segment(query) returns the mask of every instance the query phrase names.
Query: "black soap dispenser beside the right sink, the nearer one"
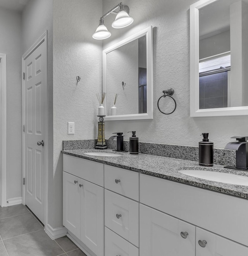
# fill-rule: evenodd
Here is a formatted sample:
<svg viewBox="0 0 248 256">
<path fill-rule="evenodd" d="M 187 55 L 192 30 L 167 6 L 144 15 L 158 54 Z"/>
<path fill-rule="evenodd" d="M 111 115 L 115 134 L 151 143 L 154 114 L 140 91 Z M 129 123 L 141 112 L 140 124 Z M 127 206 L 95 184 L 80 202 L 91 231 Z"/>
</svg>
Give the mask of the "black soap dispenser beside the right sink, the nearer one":
<svg viewBox="0 0 248 256">
<path fill-rule="evenodd" d="M 199 165 L 214 166 L 214 143 L 209 141 L 207 132 L 201 135 L 203 140 L 199 142 Z"/>
</svg>

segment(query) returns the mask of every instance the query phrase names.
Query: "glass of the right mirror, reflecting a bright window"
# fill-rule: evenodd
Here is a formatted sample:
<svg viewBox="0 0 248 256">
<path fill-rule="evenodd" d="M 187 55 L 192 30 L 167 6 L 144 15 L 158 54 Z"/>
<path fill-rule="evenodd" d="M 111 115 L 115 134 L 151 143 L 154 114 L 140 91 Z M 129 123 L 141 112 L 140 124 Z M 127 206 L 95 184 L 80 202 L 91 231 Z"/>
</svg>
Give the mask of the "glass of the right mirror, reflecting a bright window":
<svg viewBox="0 0 248 256">
<path fill-rule="evenodd" d="M 199 10 L 199 108 L 248 106 L 248 1 Z"/>
</svg>

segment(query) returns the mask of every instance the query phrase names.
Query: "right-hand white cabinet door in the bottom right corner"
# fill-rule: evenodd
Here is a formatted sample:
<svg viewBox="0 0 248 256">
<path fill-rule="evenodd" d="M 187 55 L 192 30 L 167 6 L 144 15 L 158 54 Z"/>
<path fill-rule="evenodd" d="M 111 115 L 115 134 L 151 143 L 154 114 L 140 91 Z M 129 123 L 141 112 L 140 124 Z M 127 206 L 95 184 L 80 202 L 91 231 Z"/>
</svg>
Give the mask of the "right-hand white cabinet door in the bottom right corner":
<svg viewBox="0 0 248 256">
<path fill-rule="evenodd" d="M 199 241 L 200 244 L 205 247 L 200 246 Z M 196 227 L 196 256 L 245 255 L 248 255 L 248 247 Z"/>
</svg>

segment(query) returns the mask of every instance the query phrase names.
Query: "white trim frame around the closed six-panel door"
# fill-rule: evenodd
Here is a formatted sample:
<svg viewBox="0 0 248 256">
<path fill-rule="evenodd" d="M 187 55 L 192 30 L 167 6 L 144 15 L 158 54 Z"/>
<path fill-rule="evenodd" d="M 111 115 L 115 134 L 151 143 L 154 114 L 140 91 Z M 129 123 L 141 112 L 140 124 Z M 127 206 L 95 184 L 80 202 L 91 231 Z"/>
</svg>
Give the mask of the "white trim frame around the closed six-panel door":
<svg viewBox="0 0 248 256">
<path fill-rule="evenodd" d="M 27 57 L 35 51 L 43 42 L 46 44 L 46 68 L 44 70 L 45 73 L 45 132 L 44 132 L 44 168 L 45 168 L 45 230 L 47 229 L 48 224 L 48 99 L 47 99 L 47 73 L 48 73 L 48 41 L 47 41 L 47 30 L 43 35 L 22 55 L 22 76 L 25 70 L 25 60 Z M 25 108 L 24 108 L 24 100 L 25 100 L 25 90 L 24 90 L 24 80 L 22 77 L 22 127 L 25 125 Z M 26 129 L 26 126 L 25 126 Z M 22 129 L 22 181 L 25 178 L 25 132 Z M 25 185 L 22 182 L 22 204 L 25 204 Z"/>
</svg>

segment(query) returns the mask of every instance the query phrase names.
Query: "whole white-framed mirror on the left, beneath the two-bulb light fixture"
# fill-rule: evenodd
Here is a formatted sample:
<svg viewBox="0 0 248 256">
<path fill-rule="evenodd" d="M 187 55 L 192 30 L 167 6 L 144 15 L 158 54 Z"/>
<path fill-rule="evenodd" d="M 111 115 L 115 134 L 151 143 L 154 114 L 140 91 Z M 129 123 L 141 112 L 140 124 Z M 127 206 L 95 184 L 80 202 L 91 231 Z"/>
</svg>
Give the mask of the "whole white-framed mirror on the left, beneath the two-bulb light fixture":
<svg viewBox="0 0 248 256">
<path fill-rule="evenodd" d="M 150 26 L 103 50 L 104 120 L 153 118 L 152 47 Z"/>
</svg>

